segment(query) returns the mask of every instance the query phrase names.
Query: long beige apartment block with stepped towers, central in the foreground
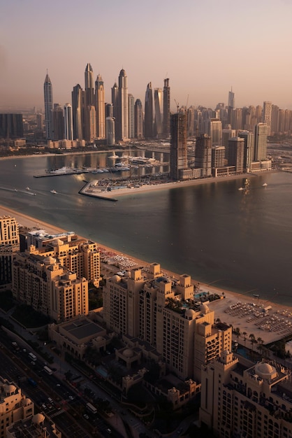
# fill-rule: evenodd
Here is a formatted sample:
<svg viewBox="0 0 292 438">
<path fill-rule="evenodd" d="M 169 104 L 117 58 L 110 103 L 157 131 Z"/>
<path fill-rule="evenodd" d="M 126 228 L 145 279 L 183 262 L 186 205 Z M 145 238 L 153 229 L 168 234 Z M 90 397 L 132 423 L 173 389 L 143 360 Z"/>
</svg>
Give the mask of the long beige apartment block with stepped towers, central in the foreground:
<svg viewBox="0 0 292 438">
<path fill-rule="evenodd" d="M 231 348 L 231 327 L 216 324 L 207 305 L 196 306 L 191 277 L 163 276 L 157 263 L 150 265 L 147 275 L 135 268 L 124 277 L 108 279 L 103 320 L 108 330 L 156 348 L 181 379 L 200 381 L 201 365 Z"/>
</svg>

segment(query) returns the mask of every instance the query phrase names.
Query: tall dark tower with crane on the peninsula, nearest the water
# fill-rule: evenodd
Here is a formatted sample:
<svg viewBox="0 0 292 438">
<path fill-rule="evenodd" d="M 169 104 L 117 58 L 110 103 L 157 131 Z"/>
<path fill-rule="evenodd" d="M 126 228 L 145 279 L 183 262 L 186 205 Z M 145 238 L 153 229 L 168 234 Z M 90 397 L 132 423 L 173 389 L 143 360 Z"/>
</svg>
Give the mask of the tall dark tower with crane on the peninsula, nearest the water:
<svg viewBox="0 0 292 438">
<path fill-rule="evenodd" d="M 170 115 L 170 178 L 180 179 L 180 169 L 187 169 L 187 115 Z"/>
</svg>

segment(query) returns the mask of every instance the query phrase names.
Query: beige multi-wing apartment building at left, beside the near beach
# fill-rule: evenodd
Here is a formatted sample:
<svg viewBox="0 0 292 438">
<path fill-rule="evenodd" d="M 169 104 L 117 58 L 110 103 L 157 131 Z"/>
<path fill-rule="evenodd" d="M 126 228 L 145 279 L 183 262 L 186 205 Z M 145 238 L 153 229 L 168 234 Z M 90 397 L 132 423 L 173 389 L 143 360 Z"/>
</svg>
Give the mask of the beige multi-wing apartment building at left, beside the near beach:
<svg viewBox="0 0 292 438">
<path fill-rule="evenodd" d="M 72 232 L 39 231 L 27 234 L 27 245 L 13 260 L 13 298 L 57 323 L 87 315 L 88 283 L 98 286 L 101 279 L 96 243 Z"/>
</svg>

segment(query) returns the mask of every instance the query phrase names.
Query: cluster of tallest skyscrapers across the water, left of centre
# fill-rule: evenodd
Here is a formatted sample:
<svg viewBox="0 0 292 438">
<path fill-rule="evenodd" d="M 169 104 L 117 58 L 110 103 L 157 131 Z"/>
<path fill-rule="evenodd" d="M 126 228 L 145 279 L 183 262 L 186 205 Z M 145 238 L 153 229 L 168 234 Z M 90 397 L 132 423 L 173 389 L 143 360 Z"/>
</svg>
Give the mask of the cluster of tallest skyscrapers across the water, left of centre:
<svg viewBox="0 0 292 438">
<path fill-rule="evenodd" d="M 111 90 L 111 103 L 105 102 L 105 90 L 101 75 L 96 76 L 92 66 L 85 68 L 85 90 L 80 84 L 73 87 L 72 104 L 64 109 L 53 103 L 52 82 L 47 73 L 44 83 L 45 136 L 47 140 L 116 141 L 129 139 L 161 138 L 169 136 L 170 86 L 164 80 L 163 90 L 154 90 L 155 122 L 153 122 L 152 85 L 147 85 L 145 111 L 140 99 L 134 99 L 128 90 L 126 71 L 119 72 L 118 84 Z"/>
</svg>

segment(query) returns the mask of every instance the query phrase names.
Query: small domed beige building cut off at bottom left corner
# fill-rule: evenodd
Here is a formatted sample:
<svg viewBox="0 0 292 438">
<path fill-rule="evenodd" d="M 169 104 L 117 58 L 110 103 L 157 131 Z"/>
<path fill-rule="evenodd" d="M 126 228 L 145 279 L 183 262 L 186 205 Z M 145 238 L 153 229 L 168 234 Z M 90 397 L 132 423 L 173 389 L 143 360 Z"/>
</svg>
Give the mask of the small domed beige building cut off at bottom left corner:
<svg viewBox="0 0 292 438">
<path fill-rule="evenodd" d="M 21 389 L 0 377 L 0 437 L 6 438 L 6 429 L 15 421 L 34 415 L 34 403 Z"/>
</svg>

